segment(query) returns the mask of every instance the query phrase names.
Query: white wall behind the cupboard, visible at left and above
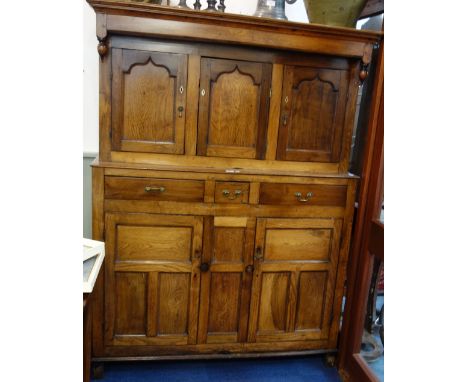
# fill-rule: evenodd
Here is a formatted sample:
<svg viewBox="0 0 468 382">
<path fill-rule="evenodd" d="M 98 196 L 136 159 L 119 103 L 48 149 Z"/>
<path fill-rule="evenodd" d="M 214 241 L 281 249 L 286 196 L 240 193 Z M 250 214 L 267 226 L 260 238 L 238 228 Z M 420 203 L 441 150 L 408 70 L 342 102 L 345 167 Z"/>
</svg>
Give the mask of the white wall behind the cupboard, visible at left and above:
<svg viewBox="0 0 468 382">
<path fill-rule="evenodd" d="M 188 0 L 189 6 L 195 0 Z M 171 0 L 171 5 L 178 4 Z M 165 4 L 165 0 L 163 1 Z M 257 0 L 226 0 L 226 12 L 252 15 L 257 8 Z M 206 0 L 202 0 L 202 9 Z M 308 22 L 304 2 L 286 4 L 286 16 L 290 21 Z M 83 152 L 97 153 L 99 150 L 99 56 L 97 54 L 96 17 L 94 10 L 83 1 Z"/>
</svg>

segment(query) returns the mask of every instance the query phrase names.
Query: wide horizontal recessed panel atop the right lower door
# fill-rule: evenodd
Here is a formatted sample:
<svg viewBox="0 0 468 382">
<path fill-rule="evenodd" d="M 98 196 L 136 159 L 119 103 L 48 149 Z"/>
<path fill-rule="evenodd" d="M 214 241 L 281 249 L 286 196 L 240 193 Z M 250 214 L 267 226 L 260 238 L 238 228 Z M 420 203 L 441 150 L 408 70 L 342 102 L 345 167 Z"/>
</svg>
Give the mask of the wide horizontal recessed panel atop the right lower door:
<svg viewBox="0 0 468 382">
<path fill-rule="evenodd" d="M 330 229 L 267 229 L 265 261 L 329 260 Z"/>
</svg>

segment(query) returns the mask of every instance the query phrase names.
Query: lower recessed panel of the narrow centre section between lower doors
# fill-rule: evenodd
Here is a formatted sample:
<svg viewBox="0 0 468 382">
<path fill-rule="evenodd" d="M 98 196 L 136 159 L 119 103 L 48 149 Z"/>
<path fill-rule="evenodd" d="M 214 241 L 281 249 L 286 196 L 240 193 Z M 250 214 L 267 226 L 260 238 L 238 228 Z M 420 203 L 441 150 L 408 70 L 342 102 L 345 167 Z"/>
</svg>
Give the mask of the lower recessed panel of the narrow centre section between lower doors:
<svg viewBox="0 0 468 382">
<path fill-rule="evenodd" d="M 241 273 L 211 274 L 209 333 L 238 331 L 241 280 Z"/>
</svg>

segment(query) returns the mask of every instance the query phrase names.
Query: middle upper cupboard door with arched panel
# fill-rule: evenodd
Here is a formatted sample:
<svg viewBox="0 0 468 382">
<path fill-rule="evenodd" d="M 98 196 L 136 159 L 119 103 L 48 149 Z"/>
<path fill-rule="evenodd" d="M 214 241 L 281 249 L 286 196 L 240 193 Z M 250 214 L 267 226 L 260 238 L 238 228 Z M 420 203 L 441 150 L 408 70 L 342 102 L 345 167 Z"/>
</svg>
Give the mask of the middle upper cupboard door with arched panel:
<svg viewBox="0 0 468 382">
<path fill-rule="evenodd" d="M 202 58 L 198 154 L 264 156 L 271 65 Z"/>
</svg>

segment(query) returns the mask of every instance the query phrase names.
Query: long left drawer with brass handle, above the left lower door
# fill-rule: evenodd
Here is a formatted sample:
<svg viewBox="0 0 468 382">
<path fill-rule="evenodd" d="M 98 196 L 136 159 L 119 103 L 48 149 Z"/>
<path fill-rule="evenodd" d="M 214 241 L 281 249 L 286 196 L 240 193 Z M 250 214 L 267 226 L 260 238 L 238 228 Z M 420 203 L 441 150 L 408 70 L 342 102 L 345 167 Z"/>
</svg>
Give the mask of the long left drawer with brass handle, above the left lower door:
<svg viewBox="0 0 468 382">
<path fill-rule="evenodd" d="M 107 199 L 202 202 L 205 182 L 106 176 L 104 190 Z"/>
</svg>

